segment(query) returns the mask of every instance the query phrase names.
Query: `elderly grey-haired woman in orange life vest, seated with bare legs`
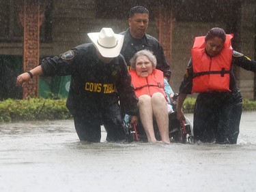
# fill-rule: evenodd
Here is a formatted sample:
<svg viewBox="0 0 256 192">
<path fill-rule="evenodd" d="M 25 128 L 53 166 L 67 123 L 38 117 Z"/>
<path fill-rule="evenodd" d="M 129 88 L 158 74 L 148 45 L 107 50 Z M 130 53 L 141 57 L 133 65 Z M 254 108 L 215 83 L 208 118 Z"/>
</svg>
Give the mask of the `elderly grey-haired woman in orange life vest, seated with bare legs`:
<svg viewBox="0 0 256 192">
<path fill-rule="evenodd" d="M 141 50 L 130 59 L 130 75 L 135 93 L 139 98 L 139 115 L 148 142 L 158 142 L 154 133 L 156 118 L 160 138 L 169 144 L 169 116 L 165 94 L 164 76 L 156 69 L 156 57 L 149 50 Z"/>
</svg>

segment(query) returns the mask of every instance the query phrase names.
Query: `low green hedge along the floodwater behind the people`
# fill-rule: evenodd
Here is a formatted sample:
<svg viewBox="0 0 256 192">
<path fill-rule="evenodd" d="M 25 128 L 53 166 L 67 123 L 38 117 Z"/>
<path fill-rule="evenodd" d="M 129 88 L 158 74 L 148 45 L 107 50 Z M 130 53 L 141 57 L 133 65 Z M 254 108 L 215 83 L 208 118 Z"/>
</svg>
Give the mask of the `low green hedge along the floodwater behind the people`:
<svg viewBox="0 0 256 192">
<path fill-rule="evenodd" d="M 195 98 L 187 97 L 183 111 L 193 113 Z M 256 110 L 256 101 L 244 99 L 243 110 Z M 0 101 L 0 122 L 68 119 L 72 115 L 66 108 L 66 99 L 6 99 Z"/>
</svg>

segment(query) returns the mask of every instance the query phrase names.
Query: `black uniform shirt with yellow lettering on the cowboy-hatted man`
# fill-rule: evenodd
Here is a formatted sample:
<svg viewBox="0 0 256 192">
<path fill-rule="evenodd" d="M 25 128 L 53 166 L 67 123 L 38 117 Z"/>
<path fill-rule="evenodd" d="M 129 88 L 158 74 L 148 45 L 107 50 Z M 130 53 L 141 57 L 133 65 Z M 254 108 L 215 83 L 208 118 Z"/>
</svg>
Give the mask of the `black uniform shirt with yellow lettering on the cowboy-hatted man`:
<svg viewBox="0 0 256 192">
<path fill-rule="evenodd" d="M 121 54 L 111 63 L 102 63 L 94 45 L 83 44 L 59 57 L 43 59 L 40 65 L 44 76 L 71 75 L 67 107 L 72 114 L 94 113 L 100 118 L 104 108 L 118 101 L 126 114 L 138 114 L 138 99 Z"/>
</svg>

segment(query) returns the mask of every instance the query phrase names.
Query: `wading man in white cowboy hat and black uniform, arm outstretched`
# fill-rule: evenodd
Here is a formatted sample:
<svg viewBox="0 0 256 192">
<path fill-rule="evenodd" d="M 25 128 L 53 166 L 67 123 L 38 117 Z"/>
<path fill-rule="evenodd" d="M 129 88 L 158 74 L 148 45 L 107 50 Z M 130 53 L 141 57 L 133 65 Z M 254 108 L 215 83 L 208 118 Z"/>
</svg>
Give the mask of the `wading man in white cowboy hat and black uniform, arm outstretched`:
<svg viewBox="0 0 256 192">
<path fill-rule="evenodd" d="M 104 125 L 107 141 L 125 139 L 121 107 L 137 123 L 138 99 L 131 86 L 130 75 L 119 54 L 124 36 L 111 28 L 88 33 L 92 44 L 83 44 L 55 57 L 46 57 L 38 67 L 17 77 L 17 86 L 33 76 L 71 75 L 67 107 L 74 117 L 76 133 L 81 141 L 100 142 L 100 125 Z"/>
</svg>

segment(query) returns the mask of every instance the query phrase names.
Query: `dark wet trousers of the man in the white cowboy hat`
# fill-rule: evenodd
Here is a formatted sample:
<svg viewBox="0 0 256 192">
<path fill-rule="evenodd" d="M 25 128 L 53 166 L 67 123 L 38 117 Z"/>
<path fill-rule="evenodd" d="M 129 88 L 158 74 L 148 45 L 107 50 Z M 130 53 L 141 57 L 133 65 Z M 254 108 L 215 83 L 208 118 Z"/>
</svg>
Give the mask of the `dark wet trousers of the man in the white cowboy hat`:
<svg viewBox="0 0 256 192">
<path fill-rule="evenodd" d="M 73 116 L 74 127 L 81 141 L 100 142 L 100 125 L 104 125 L 106 129 L 106 141 L 121 142 L 126 138 L 124 128 L 122 127 L 121 109 L 118 103 L 102 108 L 100 113 L 94 113 L 91 110 L 91 114 L 76 112 Z"/>
</svg>

